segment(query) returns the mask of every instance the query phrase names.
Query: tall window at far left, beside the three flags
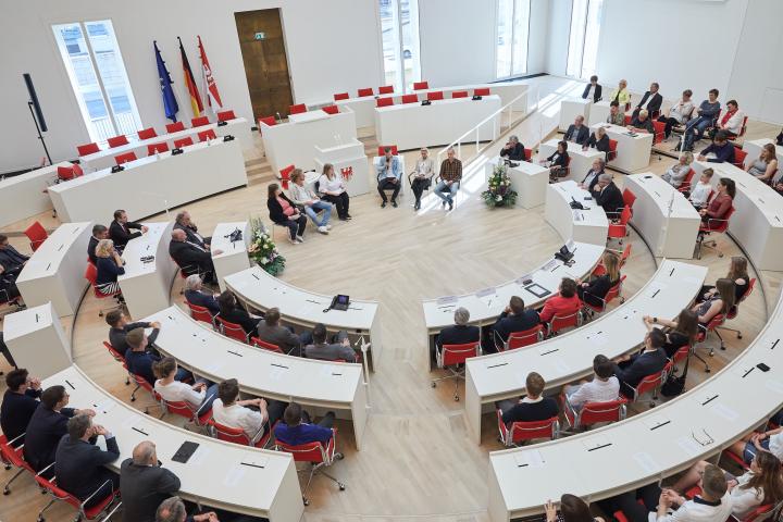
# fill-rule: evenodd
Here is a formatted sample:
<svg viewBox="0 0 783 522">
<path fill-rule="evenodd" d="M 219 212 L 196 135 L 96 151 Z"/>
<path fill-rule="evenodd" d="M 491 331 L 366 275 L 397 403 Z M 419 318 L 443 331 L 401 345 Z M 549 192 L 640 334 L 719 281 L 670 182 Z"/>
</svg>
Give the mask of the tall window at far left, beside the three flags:
<svg viewBox="0 0 783 522">
<path fill-rule="evenodd" d="M 52 29 L 90 139 L 105 141 L 140 129 L 111 21 L 58 24 Z"/>
</svg>

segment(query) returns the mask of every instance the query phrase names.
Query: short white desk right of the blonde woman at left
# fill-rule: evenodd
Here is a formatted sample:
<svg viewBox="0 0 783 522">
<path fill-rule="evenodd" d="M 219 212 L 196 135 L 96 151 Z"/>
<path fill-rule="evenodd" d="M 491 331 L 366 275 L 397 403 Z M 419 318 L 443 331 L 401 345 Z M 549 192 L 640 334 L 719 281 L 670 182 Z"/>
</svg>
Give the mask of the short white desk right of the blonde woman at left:
<svg viewBox="0 0 783 522">
<path fill-rule="evenodd" d="M 125 274 L 117 277 L 132 318 L 142 318 L 167 308 L 177 266 L 169 256 L 173 221 L 144 223 L 149 229 L 128 241 L 123 250 Z M 141 258 L 154 256 L 145 263 Z"/>
</svg>

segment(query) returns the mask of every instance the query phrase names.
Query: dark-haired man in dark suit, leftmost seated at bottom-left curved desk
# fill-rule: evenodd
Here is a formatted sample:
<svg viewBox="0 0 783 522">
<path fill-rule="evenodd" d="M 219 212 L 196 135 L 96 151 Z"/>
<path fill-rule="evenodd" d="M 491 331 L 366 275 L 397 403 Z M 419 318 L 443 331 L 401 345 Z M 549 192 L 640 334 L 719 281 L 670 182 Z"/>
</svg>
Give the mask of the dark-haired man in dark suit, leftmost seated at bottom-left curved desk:
<svg viewBox="0 0 783 522">
<path fill-rule="evenodd" d="M 14 447 L 18 447 L 24 443 L 22 435 L 27 431 L 27 424 L 39 405 L 40 381 L 30 377 L 27 370 L 20 368 L 5 375 L 5 385 L 8 389 L 0 406 L 0 428 L 5 438 L 13 440 Z"/>
</svg>

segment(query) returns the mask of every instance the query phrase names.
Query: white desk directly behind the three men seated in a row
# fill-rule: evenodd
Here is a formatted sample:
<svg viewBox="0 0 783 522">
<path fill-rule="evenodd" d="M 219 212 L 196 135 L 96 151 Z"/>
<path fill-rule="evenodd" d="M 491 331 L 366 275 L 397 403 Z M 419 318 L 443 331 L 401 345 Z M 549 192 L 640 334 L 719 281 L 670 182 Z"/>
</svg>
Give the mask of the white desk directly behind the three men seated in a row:
<svg viewBox="0 0 783 522">
<path fill-rule="evenodd" d="M 435 100 L 430 105 L 405 103 L 375 109 L 375 132 L 378 144 L 396 145 L 400 150 L 447 145 L 460 134 L 476 126 L 500 109 L 500 97 L 481 100 L 456 98 Z M 500 133 L 499 115 L 478 127 L 478 140 L 488 141 Z M 470 133 L 464 142 L 475 142 Z"/>
</svg>

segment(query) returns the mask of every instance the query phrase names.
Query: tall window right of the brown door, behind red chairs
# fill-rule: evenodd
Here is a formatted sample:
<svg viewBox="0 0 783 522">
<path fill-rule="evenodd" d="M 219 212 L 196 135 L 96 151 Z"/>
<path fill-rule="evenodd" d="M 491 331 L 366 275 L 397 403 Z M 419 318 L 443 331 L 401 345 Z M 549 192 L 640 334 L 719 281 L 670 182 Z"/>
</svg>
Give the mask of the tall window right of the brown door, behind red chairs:
<svg viewBox="0 0 783 522">
<path fill-rule="evenodd" d="M 402 92 L 421 79 L 419 0 L 378 0 L 386 85 Z"/>
</svg>

